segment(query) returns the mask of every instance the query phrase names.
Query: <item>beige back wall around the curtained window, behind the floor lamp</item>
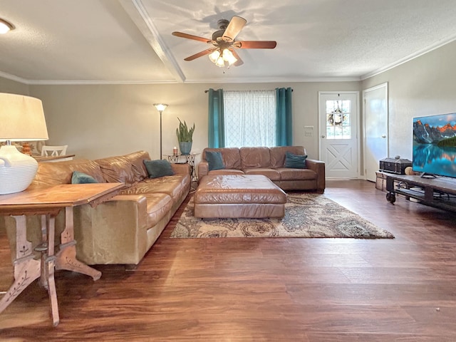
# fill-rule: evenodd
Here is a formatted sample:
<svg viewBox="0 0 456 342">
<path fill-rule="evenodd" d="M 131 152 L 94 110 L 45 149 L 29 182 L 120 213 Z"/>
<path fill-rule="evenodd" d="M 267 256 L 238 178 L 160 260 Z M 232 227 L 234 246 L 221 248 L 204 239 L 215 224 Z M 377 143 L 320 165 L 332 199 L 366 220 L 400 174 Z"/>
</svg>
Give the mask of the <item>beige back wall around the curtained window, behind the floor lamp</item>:
<svg viewBox="0 0 456 342">
<path fill-rule="evenodd" d="M 152 103 L 167 103 L 162 114 L 162 150 L 177 145 L 179 121 L 195 123 L 194 152 L 207 147 L 208 88 L 225 90 L 291 87 L 294 144 L 304 145 L 318 158 L 318 135 L 304 138 L 304 125 L 318 128 L 318 90 L 360 90 L 359 82 L 142 84 L 96 86 L 30 86 L 31 95 L 43 100 L 48 125 L 48 145 L 68 144 L 68 153 L 97 158 L 147 150 L 160 157 L 160 115 Z"/>
</svg>

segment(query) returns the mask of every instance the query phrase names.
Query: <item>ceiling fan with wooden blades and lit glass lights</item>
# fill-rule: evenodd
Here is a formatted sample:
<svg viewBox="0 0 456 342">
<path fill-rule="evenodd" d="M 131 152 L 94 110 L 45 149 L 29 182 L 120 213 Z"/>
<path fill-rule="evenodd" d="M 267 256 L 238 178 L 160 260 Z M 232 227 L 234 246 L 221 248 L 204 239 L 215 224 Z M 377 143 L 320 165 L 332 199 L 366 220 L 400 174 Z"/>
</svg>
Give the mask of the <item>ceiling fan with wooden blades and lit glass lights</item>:
<svg viewBox="0 0 456 342">
<path fill-rule="evenodd" d="M 212 33 L 212 39 L 193 36 L 192 34 L 182 32 L 172 32 L 173 36 L 202 41 L 203 43 L 212 44 L 212 47 L 204 51 L 195 53 L 195 55 L 184 58 L 184 61 L 193 61 L 201 56 L 209 55 L 209 59 L 216 66 L 241 66 L 244 64 L 236 52 L 238 48 L 275 48 L 276 41 L 236 41 L 235 38 L 244 28 L 247 20 L 240 16 L 233 16 L 230 21 L 221 19 L 217 22 L 219 30 Z"/>
</svg>

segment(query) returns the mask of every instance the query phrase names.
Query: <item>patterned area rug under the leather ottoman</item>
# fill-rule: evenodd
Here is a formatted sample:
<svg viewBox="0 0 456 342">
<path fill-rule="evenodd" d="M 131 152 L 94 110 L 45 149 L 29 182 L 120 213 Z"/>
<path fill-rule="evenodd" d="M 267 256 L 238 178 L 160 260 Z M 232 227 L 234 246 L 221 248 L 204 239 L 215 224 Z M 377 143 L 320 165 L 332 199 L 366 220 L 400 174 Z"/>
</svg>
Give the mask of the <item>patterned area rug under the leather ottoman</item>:
<svg viewBox="0 0 456 342">
<path fill-rule="evenodd" d="M 197 219 L 193 208 L 190 199 L 171 237 L 394 238 L 390 232 L 323 195 L 289 194 L 283 219 Z"/>
</svg>

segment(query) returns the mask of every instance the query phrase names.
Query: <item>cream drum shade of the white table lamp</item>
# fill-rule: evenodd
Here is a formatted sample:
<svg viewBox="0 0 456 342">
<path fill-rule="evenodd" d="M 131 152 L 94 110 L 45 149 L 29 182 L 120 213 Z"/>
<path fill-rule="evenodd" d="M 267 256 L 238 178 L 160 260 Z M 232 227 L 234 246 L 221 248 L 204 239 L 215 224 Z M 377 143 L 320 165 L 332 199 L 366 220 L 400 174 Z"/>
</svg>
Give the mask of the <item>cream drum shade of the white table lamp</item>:
<svg viewBox="0 0 456 342">
<path fill-rule="evenodd" d="M 41 100 L 0 93 L 0 141 L 5 140 L 48 140 Z"/>
</svg>

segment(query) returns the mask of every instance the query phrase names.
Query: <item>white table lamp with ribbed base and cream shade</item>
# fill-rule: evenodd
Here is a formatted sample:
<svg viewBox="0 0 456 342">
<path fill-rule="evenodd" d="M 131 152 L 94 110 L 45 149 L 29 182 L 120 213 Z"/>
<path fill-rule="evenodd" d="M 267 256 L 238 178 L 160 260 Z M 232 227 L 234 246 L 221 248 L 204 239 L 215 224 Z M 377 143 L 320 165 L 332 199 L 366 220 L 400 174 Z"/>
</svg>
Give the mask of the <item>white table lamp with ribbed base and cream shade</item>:
<svg viewBox="0 0 456 342">
<path fill-rule="evenodd" d="M 19 152 L 11 141 L 48 140 L 43 104 L 38 98 L 0 93 L 0 195 L 26 190 L 38 162 Z"/>
</svg>

